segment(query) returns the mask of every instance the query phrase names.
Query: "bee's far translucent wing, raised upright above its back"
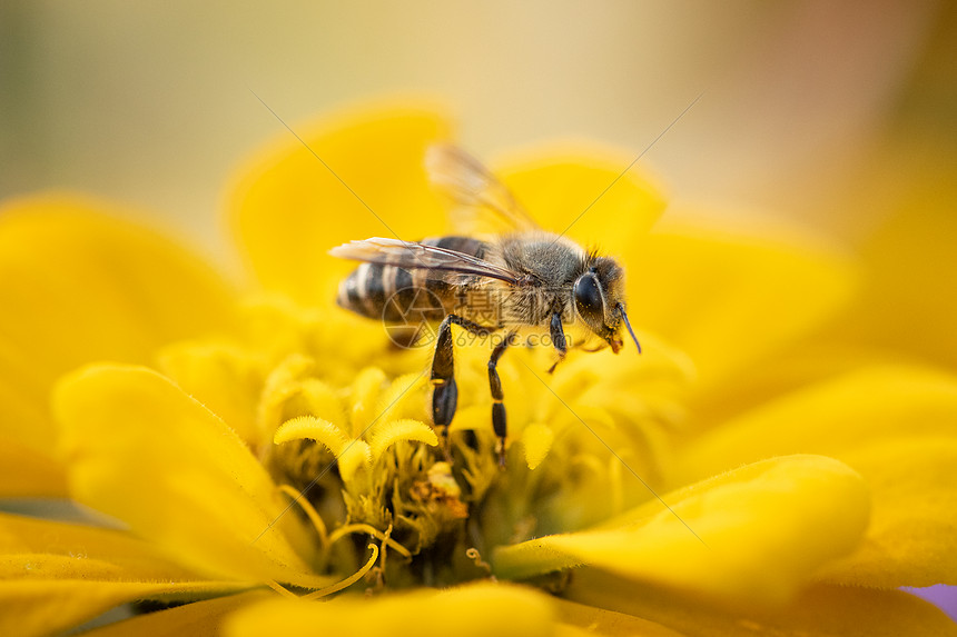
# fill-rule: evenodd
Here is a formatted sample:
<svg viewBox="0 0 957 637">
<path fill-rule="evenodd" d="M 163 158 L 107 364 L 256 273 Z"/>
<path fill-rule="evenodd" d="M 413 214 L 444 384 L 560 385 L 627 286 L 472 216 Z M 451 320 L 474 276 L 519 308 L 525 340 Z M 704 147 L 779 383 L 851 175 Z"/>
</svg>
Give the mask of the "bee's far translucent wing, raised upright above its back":
<svg viewBox="0 0 957 637">
<path fill-rule="evenodd" d="M 452 221 L 458 231 L 501 235 L 539 229 L 512 192 L 461 148 L 430 147 L 425 168 L 432 183 L 457 203 Z"/>
</svg>

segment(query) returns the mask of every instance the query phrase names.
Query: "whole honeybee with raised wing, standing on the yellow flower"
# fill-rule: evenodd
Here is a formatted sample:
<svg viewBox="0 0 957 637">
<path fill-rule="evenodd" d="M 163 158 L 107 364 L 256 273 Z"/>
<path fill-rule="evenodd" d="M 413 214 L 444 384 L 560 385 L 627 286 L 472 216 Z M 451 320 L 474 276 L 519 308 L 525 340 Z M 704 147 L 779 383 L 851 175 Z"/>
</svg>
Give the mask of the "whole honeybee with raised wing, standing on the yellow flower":
<svg viewBox="0 0 957 637">
<path fill-rule="evenodd" d="M 432 418 L 446 454 L 458 397 L 452 326 L 476 337 L 504 335 L 489 360 L 492 427 L 504 464 L 507 426 L 499 359 L 520 337 L 532 342 L 529 336 L 539 335 L 539 341 L 550 341 L 556 352 L 551 372 L 570 347 L 586 351 L 611 347 L 618 354 L 622 327 L 640 354 L 625 312 L 624 270 L 611 257 L 541 229 L 509 189 L 463 150 L 430 148 L 426 169 L 433 185 L 457 202 L 453 211 L 457 227 L 474 233 L 491 225 L 501 231 L 417 242 L 373 237 L 333 248 L 329 253 L 335 257 L 364 261 L 339 285 L 336 300 L 386 324 L 406 321 L 413 307 L 421 318 L 438 324 Z"/>
</svg>

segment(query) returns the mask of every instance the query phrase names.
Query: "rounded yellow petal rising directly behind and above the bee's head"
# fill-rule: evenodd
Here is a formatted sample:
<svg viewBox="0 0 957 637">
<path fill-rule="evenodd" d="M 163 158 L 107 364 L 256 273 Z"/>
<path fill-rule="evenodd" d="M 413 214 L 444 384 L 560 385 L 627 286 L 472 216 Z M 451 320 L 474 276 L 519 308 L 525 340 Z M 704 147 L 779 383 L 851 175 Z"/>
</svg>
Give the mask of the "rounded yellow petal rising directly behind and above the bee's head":
<svg viewBox="0 0 957 637">
<path fill-rule="evenodd" d="M 664 210 L 640 168 L 625 172 L 637 155 L 586 143 L 539 146 L 513 155 L 499 173 L 546 230 L 568 230 L 586 246 L 624 256 Z"/>
</svg>

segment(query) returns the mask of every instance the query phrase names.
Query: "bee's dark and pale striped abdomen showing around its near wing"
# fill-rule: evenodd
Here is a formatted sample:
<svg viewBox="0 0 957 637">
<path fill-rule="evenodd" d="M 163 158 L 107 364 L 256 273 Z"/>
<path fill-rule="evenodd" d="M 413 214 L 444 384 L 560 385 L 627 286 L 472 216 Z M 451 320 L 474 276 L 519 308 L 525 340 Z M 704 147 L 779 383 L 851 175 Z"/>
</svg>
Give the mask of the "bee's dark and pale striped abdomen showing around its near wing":
<svg viewBox="0 0 957 637">
<path fill-rule="evenodd" d="M 432 237 L 420 243 L 480 259 L 489 248 L 484 241 L 470 237 Z M 445 282 L 444 276 L 445 272 L 427 269 L 363 263 L 339 283 L 336 302 L 347 310 L 386 322 L 440 321 L 455 305 L 454 286 Z"/>
</svg>

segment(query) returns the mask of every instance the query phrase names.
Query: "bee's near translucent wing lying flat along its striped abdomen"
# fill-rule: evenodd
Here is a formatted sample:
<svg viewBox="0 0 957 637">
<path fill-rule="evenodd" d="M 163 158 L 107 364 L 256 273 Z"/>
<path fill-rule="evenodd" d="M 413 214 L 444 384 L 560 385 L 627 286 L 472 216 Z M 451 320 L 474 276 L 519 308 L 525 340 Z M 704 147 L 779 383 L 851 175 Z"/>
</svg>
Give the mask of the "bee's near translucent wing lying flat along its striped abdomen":
<svg viewBox="0 0 957 637">
<path fill-rule="evenodd" d="M 425 246 L 412 241 L 373 237 L 364 241 L 349 241 L 329 250 L 329 255 L 355 261 L 398 266 L 407 270 L 426 269 L 451 275 L 471 275 L 499 279 L 515 285 L 516 272 L 464 252 Z M 454 280 L 454 276 L 452 279 Z"/>
</svg>

